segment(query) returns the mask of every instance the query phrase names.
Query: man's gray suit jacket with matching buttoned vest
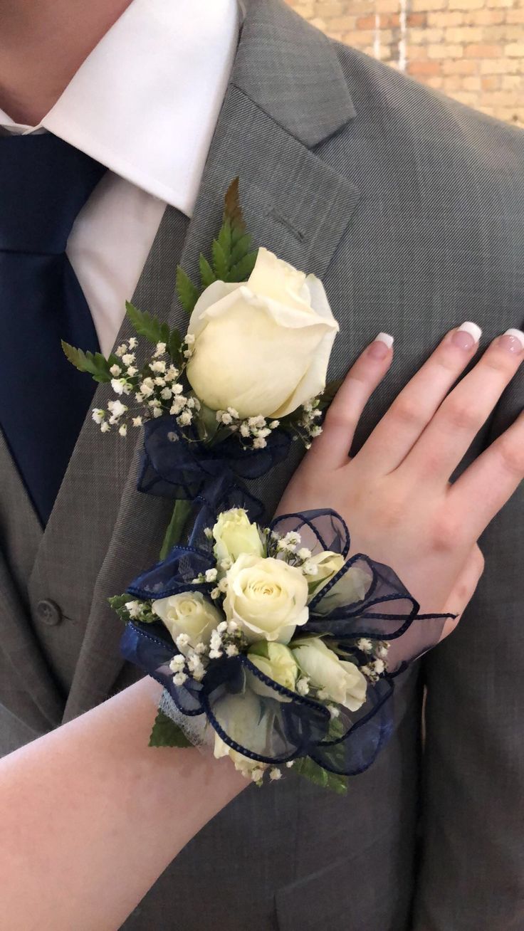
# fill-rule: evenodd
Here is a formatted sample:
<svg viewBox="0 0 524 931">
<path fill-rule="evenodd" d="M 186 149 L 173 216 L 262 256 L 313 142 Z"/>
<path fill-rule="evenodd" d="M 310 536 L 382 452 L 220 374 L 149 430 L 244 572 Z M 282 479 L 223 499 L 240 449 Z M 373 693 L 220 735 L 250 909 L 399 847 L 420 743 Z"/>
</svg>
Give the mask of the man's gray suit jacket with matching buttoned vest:
<svg viewBox="0 0 524 931">
<path fill-rule="evenodd" d="M 369 404 L 358 444 L 451 326 L 476 320 L 488 341 L 522 324 L 523 172 L 517 128 L 330 41 L 283 0 L 251 0 L 181 263 L 195 272 L 220 223 L 223 193 L 239 175 L 255 242 L 325 283 L 341 323 L 331 374 L 346 371 L 377 331 L 396 336 L 393 371 Z M 183 327 L 172 296 L 180 250 L 180 218 L 167 209 L 134 301 Z M 127 334 L 124 324 L 119 342 Z M 521 404 L 516 381 L 475 449 Z M 87 417 L 41 533 L 7 450 L 0 454 L 7 750 L 133 681 L 106 599 L 155 561 L 169 504 L 136 492 L 132 442 L 101 438 Z M 262 480 L 270 509 L 297 455 Z M 507 676 L 524 660 L 522 509 L 514 499 L 493 523 L 488 582 L 462 631 L 426 664 L 431 765 L 415 911 L 418 670 L 398 689 L 396 734 L 347 799 L 292 777 L 248 789 L 185 848 L 127 928 L 522 926 L 524 696 L 522 677 Z"/>
</svg>

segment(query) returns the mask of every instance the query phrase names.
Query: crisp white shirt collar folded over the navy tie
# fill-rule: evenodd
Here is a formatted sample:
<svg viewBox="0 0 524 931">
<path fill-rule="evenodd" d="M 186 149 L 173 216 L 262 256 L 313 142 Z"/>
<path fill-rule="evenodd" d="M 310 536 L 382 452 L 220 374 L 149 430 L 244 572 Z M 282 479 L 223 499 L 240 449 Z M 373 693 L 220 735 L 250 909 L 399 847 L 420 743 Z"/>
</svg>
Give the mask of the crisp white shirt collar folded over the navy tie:
<svg viewBox="0 0 524 931">
<path fill-rule="evenodd" d="M 229 81 L 237 0 L 133 0 L 38 127 L 191 216 Z"/>
</svg>

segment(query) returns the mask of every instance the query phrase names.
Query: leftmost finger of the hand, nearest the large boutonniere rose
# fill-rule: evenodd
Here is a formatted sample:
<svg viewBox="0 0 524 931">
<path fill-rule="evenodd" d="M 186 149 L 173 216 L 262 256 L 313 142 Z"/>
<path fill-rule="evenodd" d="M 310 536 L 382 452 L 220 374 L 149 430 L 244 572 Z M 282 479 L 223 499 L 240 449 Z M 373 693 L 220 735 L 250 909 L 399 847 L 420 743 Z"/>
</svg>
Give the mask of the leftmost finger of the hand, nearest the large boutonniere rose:
<svg viewBox="0 0 524 931">
<path fill-rule="evenodd" d="M 391 365 L 393 336 L 379 333 L 356 359 L 329 405 L 322 433 L 307 455 L 307 465 L 335 469 L 347 463 L 356 425 L 369 397 Z"/>
</svg>

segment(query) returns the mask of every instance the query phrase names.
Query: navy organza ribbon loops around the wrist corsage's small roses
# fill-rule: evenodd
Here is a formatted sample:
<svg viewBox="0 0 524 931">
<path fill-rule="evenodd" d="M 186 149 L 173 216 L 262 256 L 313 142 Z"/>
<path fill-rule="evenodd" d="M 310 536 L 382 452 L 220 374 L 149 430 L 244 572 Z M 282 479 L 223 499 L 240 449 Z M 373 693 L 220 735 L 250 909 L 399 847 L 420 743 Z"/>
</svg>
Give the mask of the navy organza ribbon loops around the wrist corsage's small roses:
<svg viewBox="0 0 524 931">
<path fill-rule="evenodd" d="M 280 534 L 300 533 L 301 546 L 307 546 L 313 555 L 330 550 L 345 559 L 349 553 L 347 527 L 331 510 L 289 514 L 275 519 L 272 529 Z M 193 579 L 214 565 L 212 541 L 208 541 L 200 524 L 188 546 L 175 546 L 167 560 L 141 573 L 128 592 L 144 600 L 183 591 L 200 591 L 208 596 L 212 585 L 194 583 Z M 202 681 L 187 679 L 177 686 L 169 668 L 177 651 L 162 623 L 129 623 L 121 651 L 127 660 L 164 686 L 182 715 L 205 715 L 222 740 L 244 756 L 274 764 L 309 756 L 330 772 L 353 776 L 368 769 L 393 731 L 391 697 L 396 675 L 439 641 L 446 619 L 452 616 L 421 615 L 418 610 L 417 601 L 396 573 L 363 554 L 346 560 L 340 572 L 310 602 L 309 619 L 299 631 L 301 637 L 328 637 L 328 642 L 336 644 L 347 658 L 353 655 L 362 663 L 367 657 L 356 645 L 359 638 L 390 642 L 387 673 L 369 683 L 362 708 L 352 712 L 339 706 L 342 735 L 336 740 L 328 737 L 327 708 L 268 679 L 246 655 L 214 660 Z M 253 677 L 266 687 L 264 695 L 259 694 L 260 686 Z M 231 708 L 236 698 L 244 701 L 247 692 L 252 706 L 253 739 L 239 744 L 229 733 Z"/>
</svg>

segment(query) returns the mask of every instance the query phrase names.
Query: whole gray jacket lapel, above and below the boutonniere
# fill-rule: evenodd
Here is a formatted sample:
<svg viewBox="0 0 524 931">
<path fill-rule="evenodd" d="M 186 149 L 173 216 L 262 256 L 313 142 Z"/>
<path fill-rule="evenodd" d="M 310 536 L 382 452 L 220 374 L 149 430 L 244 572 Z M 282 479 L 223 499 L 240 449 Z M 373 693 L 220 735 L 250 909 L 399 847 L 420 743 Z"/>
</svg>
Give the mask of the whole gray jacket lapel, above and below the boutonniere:
<svg viewBox="0 0 524 931">
<path fill-rule="evenodd" d="M 340 63 L 328 40 L 280 0 L 250 2 L 185 238 L 184 270 L 196 279 L 199 253 L 208 254 L 220 227 L 224 193 L 238 175 L 254 244 L 323 277 L 356 207 L 358 192 L 310 146 L 336 132 L 354 114 Z M 157 312 L 155 304 L 142 306 Z M 185 331 L 187 315 L 176 299 L 168 322 Z M 104 445 L 98 435 L 96 443 L 99 448 Z M 107 597 L 124 590 L 134 574 L 155 561 L 168 519 L 170 503 L 136 492 L 134 453 L 126 452 L 126 457 L 125 462 L 113 459 L 109 463 L 109 467 L 118 467 L 120 482 L 133 460 L 94 587 L 66 719 L 111 691 L 122 667 L 118 653 L 121 626 L 107 606 Z M 81 481 L 77 494 L 85 497 Z"/>
</svg>

